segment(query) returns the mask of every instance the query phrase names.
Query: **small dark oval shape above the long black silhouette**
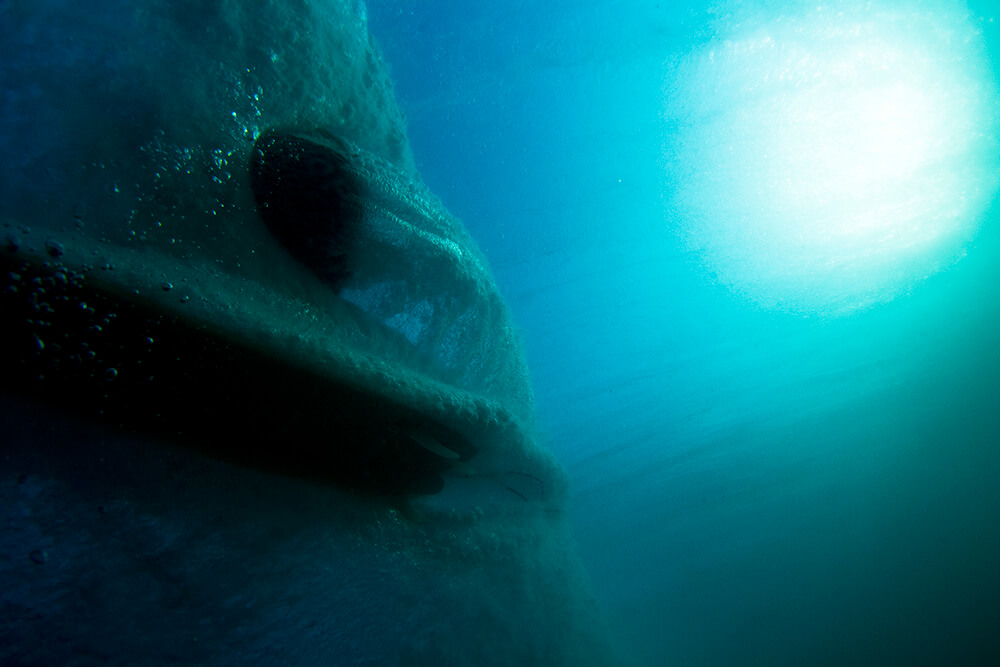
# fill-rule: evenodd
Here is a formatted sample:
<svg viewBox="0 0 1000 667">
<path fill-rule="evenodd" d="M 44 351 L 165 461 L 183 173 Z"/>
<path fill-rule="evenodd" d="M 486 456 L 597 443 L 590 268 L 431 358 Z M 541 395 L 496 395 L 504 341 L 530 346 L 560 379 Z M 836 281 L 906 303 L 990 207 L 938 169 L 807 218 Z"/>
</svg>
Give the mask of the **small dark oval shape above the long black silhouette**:
<svg viewBox="0 0 1000 667">
<path fill-rule="evenodd" d="M 257 212 L 292 256 L 332 284 L 350 275 L 362 204 L 344 144 L 265 132 L 254 144 L 250 182 Z"/>
</svg>

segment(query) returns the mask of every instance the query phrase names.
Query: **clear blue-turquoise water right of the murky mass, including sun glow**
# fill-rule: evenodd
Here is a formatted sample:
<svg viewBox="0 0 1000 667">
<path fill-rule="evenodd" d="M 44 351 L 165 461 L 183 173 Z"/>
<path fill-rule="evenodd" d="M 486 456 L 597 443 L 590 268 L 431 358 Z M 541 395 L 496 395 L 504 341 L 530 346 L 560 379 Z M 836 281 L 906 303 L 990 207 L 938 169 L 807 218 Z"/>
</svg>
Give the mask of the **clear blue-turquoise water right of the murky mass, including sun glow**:
<svg viewBox="0 0 1000 667">
<path fill-rule="evenodd" d="M 371 0 L 629 664 L 1000 660 L 1000 8 Z"/>
</svg>

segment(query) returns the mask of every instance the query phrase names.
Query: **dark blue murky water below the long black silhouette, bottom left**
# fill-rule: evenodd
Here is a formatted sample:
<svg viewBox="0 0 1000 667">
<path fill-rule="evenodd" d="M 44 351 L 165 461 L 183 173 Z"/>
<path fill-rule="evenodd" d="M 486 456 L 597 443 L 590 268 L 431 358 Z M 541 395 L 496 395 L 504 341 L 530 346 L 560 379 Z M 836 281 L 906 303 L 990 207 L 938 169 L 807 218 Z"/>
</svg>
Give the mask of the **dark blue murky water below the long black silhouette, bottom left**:
<svg viewBox="0 0 1000 667">
<path fill-rule="evenodd" d="M 557 515 L 384 500 L 0 403 L 5 665 L 577 665 Z"/>
</svg>

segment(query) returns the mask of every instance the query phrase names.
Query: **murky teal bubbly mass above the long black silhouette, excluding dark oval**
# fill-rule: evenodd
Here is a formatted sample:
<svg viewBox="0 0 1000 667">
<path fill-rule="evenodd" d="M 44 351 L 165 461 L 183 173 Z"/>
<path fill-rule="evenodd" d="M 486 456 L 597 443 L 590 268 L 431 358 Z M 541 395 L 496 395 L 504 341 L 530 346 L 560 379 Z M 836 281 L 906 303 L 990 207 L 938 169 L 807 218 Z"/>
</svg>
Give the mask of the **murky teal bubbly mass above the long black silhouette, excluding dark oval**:
<svg viewBox="0 0 1000 667">
<path fill-rule="evenodd" d="M 414 171 L 363 5 L 0 12 L 11 26 L 0 42 L 0 200 L 18 248 L 8 259 L 65 267 L 85 276 L 84 292 L 134 295 L 431 419 L 457 416 L 466 437 L 491 441 L 487 453 L 546 458 L 531 442 L 507 308 L 461 223 Z M 342 284 L 290 253 L 260 215 L 251 165 L 275 128 L 343 147 L 360 184 Z"/>
</svg>

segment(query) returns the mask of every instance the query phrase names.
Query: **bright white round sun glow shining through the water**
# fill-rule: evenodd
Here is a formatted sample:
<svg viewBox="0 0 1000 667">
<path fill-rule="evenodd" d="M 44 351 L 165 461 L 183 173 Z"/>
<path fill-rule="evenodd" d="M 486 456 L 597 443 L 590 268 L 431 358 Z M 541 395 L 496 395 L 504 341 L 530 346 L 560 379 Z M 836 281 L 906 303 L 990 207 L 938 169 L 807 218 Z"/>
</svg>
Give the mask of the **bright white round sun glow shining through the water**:
<svg viewBox="0 0 1000 667">
<path fill-rule="evenodd" d="M 1000 175 L 964 14 L 820 7 L 743 30 L 668 85 L 668 220 L 706 270 L 765 308 L 840 315 L 961 257 Z"/>
</svg>

